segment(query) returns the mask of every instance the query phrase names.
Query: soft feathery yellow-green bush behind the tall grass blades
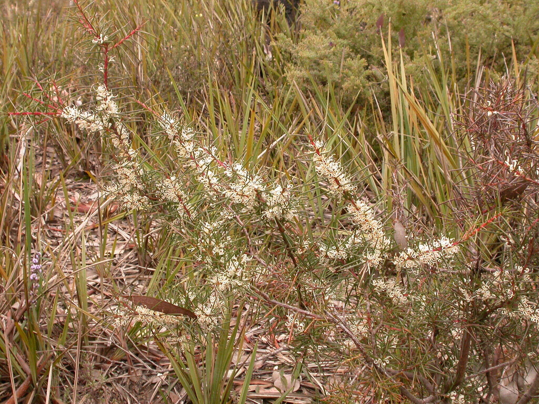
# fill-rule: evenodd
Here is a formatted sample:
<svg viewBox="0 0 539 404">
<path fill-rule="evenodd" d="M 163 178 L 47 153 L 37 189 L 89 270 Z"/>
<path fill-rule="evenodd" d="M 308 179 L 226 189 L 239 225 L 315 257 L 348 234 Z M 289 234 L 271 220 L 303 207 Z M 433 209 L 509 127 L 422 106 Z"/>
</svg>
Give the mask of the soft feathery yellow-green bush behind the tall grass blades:
<svg viewBox="0 0 539 404">
<path fill-rule="evenodd" d="M 453 59 L 455 78 L 469 80 L 471 65 L 505 70 L 504 58 L 536 57 L 539 5 L 526 1 L 367 1 L 306 0 L 301 7 L 300 36 L 279 34 L 287 77 L 305 88 L 335 88 L 345 103 L 361 92 L 386 90 L 380 66 L 380 34 L 391 22 L 392 43 L 401 46 L 405 68 L 423 81 L 424 58 Z M 385 102 L 385 100 L 383 100 Z"/>
</svg>

